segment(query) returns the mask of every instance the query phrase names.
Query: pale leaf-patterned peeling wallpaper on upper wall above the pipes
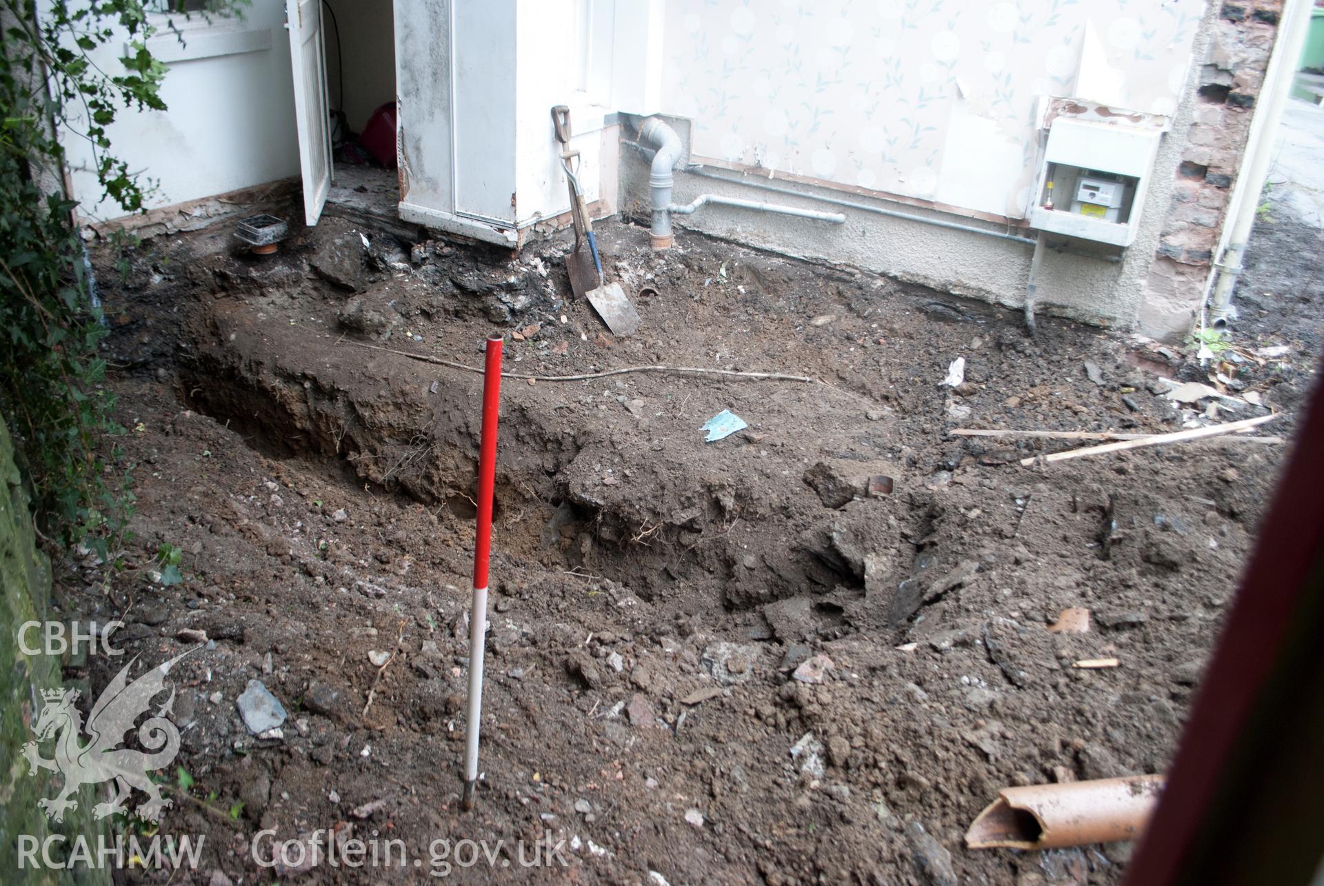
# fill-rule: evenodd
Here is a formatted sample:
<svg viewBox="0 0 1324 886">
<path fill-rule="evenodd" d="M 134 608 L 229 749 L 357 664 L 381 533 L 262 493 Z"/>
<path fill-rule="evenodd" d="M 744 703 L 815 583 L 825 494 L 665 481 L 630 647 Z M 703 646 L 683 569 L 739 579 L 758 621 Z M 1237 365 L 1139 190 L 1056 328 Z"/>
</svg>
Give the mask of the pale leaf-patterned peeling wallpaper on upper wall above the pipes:
<svg viewBox="0 0 1324 886">
<path fill-rule="evenodd" d="M 671 0 L 662 105 L 694 121 L 694 154 L 719 164 L 1022 219 L 1037 98 L 1173 114 L 1204 8 Z"/>
</svg>

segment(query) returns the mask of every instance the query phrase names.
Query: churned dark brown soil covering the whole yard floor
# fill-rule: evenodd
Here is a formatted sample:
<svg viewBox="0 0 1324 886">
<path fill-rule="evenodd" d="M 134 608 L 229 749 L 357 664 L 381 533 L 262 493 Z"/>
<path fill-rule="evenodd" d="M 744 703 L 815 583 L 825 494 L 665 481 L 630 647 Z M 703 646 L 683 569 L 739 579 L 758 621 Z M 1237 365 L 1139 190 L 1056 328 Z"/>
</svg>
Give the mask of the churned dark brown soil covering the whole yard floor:
<svg viewBox="0 0 1324 886">
<path fill-rule="evenodd" d="M 1022 468 L 1076 444 L 947 432 L 1178 429 L 1194 412 L 1148 385 L 1207 380 L 1186 352 L 1051 319 L 1029 339 L 1014 313 L 696 234 L 651 253 L 618 224 L 598 242 L 643 318 L 629 339 L 571 301 L 560 244 L 512 260 L 331 217 L 257 258 L 225 234 L 152 241 L 107 293 L 138 538 L 111 599 L 82 597 L 151 664 L 183 628 L 212 641 L 176 679 L 196 801 L 163 825 L 208 834 L 199 882 L 269 881 L 253 834 L 319 828 L 401 838 L 422 866 L 306 882 L 425 881 L 436 840 L 504 840 L 518 869 L 514 842 L 544 832 L 571 860 L 544 875 L 575 882 L 1120 879 L 1127 844 L 963 834 L 1008 784 L 1165 768 L 1284 446 Z M 512 372 L 818 381 L 506 380 L 486 777 L 463 813 L 482 379 L 356 343 L 477 366 L 493 330 Z M 1300 359 L 1231 371 L 1266 405 L 1308 383 Z M 704 442 L 722 409 L 748 429 Z M 866 497 L 876 474 L 894 490 Z M 162 543 L 183 584 L 151 580 Z M 99 573 L 73 569 L 70 592 Z M 1049 632 L 1066 607 L 1092 629 Z M 369 650 L 399 652 L 379 674 Z M 814 656 L 824 681 L 794 679 Z M 1071 666 L 1098 657 L 1120 666 Z M 252 679 L 287 709 L 283 738 L 240 720 Z"/>
</svg>

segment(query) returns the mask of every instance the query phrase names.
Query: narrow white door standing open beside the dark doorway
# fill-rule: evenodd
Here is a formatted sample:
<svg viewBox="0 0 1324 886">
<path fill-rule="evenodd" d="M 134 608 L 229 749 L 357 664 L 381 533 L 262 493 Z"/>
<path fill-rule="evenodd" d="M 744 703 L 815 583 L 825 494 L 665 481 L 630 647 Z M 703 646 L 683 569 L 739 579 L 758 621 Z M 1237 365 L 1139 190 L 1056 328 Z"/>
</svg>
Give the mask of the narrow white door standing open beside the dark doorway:
<svg viewBox="0 0 1324 886">
<path fill-rule="evenodd" d="M 294 114 L 303 171 L 303 212 L 318 224 L 331 189 L 331 115 L 327 58 L 322 44 L 322 0 L 285 0 L 294 68 Z"/>
</svg>

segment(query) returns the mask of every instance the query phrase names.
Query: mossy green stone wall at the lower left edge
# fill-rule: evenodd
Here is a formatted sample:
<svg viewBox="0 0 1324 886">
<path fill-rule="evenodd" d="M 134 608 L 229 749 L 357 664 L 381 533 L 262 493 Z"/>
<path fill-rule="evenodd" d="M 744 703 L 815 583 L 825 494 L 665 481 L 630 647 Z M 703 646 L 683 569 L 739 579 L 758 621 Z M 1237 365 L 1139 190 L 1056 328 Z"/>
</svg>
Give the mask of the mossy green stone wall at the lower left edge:
<svg viewBox="0 0 1324 886">
<path fill-rule="evenodd" d="M 95 803 L 91 788 L 83 788 L 78 809 L 61 825 L 52 825 L 37 800 L 54 793 L 58 779 L 49 772 L 29 775 L 21 755 L 30 740 L 29 728 L 40 714 L 41 691 L 61 685 L 62 666 L 57 656 L 28 656 L 19 648 L 19 626 L 44 621 L 50 613 L 50 564 L 37 551 L 36 534 L 28 513 L 28 495 L 13 461 L 13 441 L 0 421 L 0 882 L 4 883 L 109 883 L 109 870 L 19 869 L 20 834 L 44 841 L 53 833 L 66 837 L 87 834 L 97 845 L 101 825 L 91 820 Z M 29 638 L 36 641 L 37 637 Z M 81 687 L 86 695 L 86 686 Z M 49 750 L 48 750 L 49 754 Z M 54 784 L 53 784 L 54 783 Z M 60 858 L 61 852 L 53 852 Z M 38 853 L 40 858 L 40 853 Z"/>
</svg>

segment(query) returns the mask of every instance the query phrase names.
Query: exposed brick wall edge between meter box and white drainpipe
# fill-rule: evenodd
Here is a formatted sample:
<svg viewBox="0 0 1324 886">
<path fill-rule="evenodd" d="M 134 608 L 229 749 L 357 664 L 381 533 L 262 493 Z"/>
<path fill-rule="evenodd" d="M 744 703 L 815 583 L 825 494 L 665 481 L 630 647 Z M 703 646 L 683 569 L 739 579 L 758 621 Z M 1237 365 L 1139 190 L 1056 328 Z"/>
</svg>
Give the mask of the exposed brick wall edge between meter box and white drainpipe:
<svg viewBox="0 0 1324 886">
<path fill-rule="evenodd" d="M 1223 3 L 1198 60 L 1196 115 L 1168 222 L 1145 281 L 1141 327 L 1188 330 L 1192 294 L 1209 275 L 1250 121 L 1278 37 L 1283 0 Z"/>
</svg>

